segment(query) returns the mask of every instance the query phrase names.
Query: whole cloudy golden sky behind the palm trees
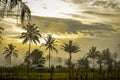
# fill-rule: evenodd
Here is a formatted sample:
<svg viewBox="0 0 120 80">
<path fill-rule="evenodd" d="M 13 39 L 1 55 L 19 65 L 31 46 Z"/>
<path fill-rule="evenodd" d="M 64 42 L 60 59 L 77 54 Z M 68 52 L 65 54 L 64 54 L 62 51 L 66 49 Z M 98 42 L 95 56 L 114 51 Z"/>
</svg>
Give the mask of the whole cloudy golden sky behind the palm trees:
<svg viewBox="0 0 120 80">
<path fill-rule="evenodd" d="M 120 53 L 120 0 L 23 1 L 30 7 L 32 21 L 39 26 L 42 34 L 51 33 L 60 43 L 73 40 L 80 45 L 81 52 L 73 54 L 73 61 L 84 56 L 91 46 L 96 46 L 98 50 L 110 48 L 112 53 Z M 16 36 L 20 36 L 24 30 L 16 24 L 16 20 L 8 17 L 0 21 L 0 26 L 5 29 L 4 40 L 0 44 L 1 53 L 7 44 L 13 43 L 19 50 L 19 58 L 16 61 L 22 62 L 28 45 L 22 45 L 22 40 Z M 40 49 L 39 45 L 33 46 L 33 49 Z M 67 59 L 68 54 L 60 47 L 57 48 L 59 53 L 53 52 L 53 62 L 58 57 Z M 3 62 L 3 55 L 0 57 Z"/>
</svg>

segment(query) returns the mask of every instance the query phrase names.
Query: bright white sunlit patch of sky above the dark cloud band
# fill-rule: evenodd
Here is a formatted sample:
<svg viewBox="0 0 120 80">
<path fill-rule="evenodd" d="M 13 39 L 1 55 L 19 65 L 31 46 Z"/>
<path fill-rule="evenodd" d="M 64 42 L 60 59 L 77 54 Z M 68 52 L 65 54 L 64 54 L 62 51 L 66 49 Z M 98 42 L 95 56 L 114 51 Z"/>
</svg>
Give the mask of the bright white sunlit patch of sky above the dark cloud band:
<svg viewBox="0 0 120 80">
<path fill-rule="evenodd" d="M 27 0 L 26 0 L 27 1 Z M 33 15 L 67 18 L 64 14 L 74 13 L 74 7 L 61 0 L 35 0 L 26 3 Z"/>
</svg>

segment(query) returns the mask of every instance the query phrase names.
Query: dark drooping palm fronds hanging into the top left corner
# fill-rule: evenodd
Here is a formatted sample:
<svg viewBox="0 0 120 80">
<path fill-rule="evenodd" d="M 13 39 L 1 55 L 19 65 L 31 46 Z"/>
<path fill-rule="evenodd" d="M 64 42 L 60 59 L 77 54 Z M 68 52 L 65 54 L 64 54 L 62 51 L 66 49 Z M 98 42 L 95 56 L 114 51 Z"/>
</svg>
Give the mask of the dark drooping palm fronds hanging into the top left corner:
<svg viewBox="0 0 120 80">
<path fill-rule="evenodd" d="M 31 21 L 31 11 L 29 7 L 23 2 L 22 0 L 0 0 L 1 6 L 3 6 L 2 11 L 2 18 L 5 16 L 5 11 L 7 11 L 7 15 L 10 15 L 9 12 L 12 12 L 12 10 L 17 6 L 17 18 L 18 14 L 20 14 L 21 17 L 21 23 L 24 24 L 25 17 L 27 18 L 27 21 Z M 7 5 L 8 4 L 8 5 Z M 6 8 L 8 7 L 8 9 Z M 14 14 L 14 13 L 13 13 Z"/>
</svg>

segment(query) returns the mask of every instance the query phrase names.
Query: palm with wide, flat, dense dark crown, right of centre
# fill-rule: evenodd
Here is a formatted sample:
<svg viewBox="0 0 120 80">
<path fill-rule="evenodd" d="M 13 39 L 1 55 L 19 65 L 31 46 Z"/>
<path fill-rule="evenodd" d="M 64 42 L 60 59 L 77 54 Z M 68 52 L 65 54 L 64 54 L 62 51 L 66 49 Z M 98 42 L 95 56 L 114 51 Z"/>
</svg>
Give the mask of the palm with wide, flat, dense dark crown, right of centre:
<svg viewBox="0 0 120 80">
<path fill-rule="evenodd" d="M 72 53 L 79 52 L 80 51 L 80 47 L 77 44 L 73 44 L 72 40 L 69 40 L 68 43 L 63 43 L 62 50 L 64 50 L 65 52 L 69 53 L 70 63 L 72 63 L 71 62 L 71 60 L 72 60 Z M 69 67 L 71 67 L 71 64 L 70 64 Z"/>
</svg>

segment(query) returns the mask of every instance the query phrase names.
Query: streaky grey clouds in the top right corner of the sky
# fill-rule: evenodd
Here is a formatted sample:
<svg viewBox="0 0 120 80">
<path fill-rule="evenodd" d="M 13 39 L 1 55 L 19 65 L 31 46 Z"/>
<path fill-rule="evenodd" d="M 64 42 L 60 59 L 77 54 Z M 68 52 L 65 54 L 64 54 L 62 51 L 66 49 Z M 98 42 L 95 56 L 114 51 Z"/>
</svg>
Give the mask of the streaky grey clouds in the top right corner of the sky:
<svg viewBox="0 0 120 80">
<path fill-rule="evenodd" d="M 72 2 L 74 4 L 82 4 L 82 7 L 102 7 L 107 9 L 113 9 L 115 11 L 120 11 L 120 1 L 119 0 L 61 0 L 64 2 Z"/>
</svg>

